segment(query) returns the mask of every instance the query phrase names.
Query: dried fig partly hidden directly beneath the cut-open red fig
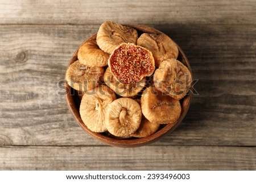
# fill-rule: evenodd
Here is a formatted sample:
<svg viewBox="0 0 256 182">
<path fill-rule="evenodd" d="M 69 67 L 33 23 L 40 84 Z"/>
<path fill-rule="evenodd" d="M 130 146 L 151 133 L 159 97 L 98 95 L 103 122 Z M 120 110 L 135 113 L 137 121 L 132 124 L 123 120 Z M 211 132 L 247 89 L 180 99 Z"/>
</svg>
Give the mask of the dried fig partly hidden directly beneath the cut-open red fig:
<svg viewBox="0 0 256 182">
<path fill-rule="evenodd" d="M 110 72 L 109 67 L 106 69 L 103 80 L 107 86 L 109 86 L 116 94 L 123 97 L 133 97 L 137 95 L 144 86 L 146 86 L 146 78 L 143 78 L 138 83 L 134 83 L 131 85 L 126 85 L 121 82 L 118 82 L 117 79 L 114 78 L 114 75 Z"/>
</svg>

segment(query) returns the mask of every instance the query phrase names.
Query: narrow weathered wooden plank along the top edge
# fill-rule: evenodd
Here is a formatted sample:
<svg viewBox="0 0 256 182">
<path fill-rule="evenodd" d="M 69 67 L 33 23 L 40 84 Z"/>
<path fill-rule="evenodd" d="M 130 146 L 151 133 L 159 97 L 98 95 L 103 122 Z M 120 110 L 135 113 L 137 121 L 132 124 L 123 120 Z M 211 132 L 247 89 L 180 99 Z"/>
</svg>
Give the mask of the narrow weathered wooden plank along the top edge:
<svg viewBox="0 0 256 182">
<path fill-rule="evenodd" d="M 255 24 L 248 1 L 0 1 L 0 24 Z"/>
</svg>

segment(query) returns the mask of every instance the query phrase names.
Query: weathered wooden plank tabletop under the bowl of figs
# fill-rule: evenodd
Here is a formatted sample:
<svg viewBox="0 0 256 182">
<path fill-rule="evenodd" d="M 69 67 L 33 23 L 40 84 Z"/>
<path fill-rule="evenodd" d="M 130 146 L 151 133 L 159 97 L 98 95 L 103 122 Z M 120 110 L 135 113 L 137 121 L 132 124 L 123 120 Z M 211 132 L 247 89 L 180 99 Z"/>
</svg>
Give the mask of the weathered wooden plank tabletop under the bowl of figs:
<svg viewBox="0 0 256 182">
<path fill-rule="evenodd" d="M 256 170 L 256 1 L 0 1 L 0 170 Z M 181 125 L 148 146 L 84 133 L 58 83 L 105 20 L 144 24 L 199 81 Z"/>
</svg>

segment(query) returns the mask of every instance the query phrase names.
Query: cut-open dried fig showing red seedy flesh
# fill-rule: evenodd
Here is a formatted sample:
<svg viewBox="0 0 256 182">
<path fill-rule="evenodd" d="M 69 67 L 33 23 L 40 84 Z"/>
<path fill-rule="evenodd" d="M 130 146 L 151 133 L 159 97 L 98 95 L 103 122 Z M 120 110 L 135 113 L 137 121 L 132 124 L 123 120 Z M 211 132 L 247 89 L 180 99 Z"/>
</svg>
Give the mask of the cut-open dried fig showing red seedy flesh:
<svg viewBox="0 0 256 182">
<path fill-rule="evenodd" d="M 129 43 L 123 43 L 113 51 L 108 65 L 115 79 L 123 84 L 137 83 L 155 70 L 152 53 L 142 46 Z"/>
</svg>

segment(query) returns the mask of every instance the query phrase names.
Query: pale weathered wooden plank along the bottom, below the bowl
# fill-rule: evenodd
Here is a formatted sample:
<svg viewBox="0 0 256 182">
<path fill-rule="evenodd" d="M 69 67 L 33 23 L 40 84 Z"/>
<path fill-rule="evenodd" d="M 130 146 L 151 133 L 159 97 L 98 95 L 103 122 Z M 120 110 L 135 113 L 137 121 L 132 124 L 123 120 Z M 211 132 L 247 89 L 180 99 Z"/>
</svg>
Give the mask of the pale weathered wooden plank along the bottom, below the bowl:
<svg viewBox="0 0 256 182">
<path fill-rule="evenodd" d="M 219 146 L 0 147 L 0 170 L 256 170 L 255 154 Z"/>
</svg>

